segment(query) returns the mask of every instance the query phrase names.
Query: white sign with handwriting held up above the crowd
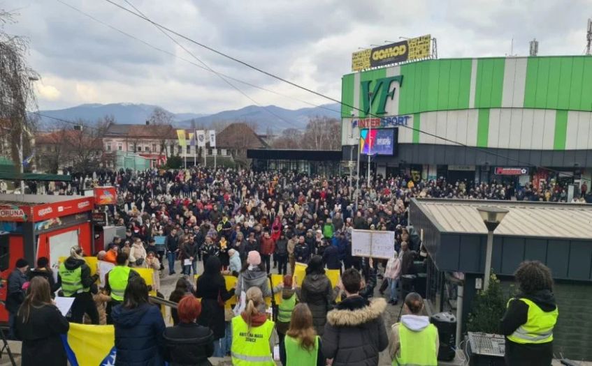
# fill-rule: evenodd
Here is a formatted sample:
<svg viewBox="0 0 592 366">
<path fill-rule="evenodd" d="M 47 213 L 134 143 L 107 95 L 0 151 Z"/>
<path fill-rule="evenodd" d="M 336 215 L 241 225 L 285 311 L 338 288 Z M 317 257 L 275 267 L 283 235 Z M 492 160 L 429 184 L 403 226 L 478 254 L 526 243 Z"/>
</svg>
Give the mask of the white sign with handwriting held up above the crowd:
<svg viewBox="0 0 592 366">
<path fill-rule="evenodd" d="M 390 259 L 394 254 L 394 231 L 352 231 L 352 256 Z"/>
</svg>

